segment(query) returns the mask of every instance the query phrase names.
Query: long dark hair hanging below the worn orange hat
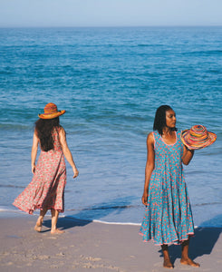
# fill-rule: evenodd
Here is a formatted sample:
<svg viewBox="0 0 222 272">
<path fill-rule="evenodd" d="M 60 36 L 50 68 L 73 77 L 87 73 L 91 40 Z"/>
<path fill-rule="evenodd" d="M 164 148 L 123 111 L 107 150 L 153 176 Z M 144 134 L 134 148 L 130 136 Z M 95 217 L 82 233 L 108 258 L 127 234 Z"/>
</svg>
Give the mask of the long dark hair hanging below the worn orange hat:
<svg viewBox="0 0 222 272">
<path fill-rule="evenodd" d="M 60 127 L 59 117 L 35 121 L 35 131 L 43 151 L 53 150 L 53 129 Z"/>
</svg>

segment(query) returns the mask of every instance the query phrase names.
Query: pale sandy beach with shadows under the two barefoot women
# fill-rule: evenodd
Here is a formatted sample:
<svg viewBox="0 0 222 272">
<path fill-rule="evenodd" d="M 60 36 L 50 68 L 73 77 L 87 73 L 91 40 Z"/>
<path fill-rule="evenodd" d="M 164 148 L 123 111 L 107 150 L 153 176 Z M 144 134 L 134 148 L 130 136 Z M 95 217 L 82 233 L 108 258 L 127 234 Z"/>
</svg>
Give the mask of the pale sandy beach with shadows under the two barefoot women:
<svg viewBox="0 0 222 272">
<path fill-rule="evenodd" d="M 50 217 L 41 233 L 34 231 L 36 217 L 1 218 L 0 270 L 4 271 L 167 271 L 159 247 L 144 243 L 140 226 L 60 218 L 62 235 L 50 233 Z M 179 263 L 180 247 L 170 246 L 173 271 L 221 271 L 222 228 L 196 228 L 190 257 L 201 267 Z"/>
</svg>

